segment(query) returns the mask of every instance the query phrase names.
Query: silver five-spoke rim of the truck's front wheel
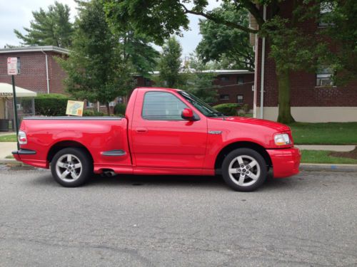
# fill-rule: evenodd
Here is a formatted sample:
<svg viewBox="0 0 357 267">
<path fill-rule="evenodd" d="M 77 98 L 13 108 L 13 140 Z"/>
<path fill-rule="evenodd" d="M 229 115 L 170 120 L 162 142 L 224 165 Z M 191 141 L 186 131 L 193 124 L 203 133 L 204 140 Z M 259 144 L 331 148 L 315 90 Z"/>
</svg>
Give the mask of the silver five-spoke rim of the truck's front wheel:
<svg viewBox="0 0 357 267">
<path fill-rule="evenodd" d="M 258 181 L 261 175 L 261 167 L 253 157 L 241 155 L 232 159 L 228 173 L 235 184 L 241 187 L 249 187 Z"/>
</svg>

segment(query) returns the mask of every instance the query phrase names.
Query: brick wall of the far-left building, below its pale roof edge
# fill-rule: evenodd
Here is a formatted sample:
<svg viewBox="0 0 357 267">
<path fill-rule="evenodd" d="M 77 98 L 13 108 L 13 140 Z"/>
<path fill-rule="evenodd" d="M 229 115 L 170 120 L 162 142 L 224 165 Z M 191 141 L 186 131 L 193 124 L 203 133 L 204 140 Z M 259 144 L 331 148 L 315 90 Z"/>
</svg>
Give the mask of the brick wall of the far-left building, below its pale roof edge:
<svg viewBox="0 0 357 267">
<path fill-rule="evenodd" d="M 64 93 L 62 80 L 65 73 L 54 61 L 53 56 L 58 53 L 46 52 L 49 61 L 50 93 Z M 7 75 L 7 58 L 20 57 L 21 73 L 15 76 L 17 86 L 37 93 L 47 93 L 46 57 L 41 52 L 1 53 L 0 54 L 0 83 L 11 83 L 11 76 Z"/>
</svg>

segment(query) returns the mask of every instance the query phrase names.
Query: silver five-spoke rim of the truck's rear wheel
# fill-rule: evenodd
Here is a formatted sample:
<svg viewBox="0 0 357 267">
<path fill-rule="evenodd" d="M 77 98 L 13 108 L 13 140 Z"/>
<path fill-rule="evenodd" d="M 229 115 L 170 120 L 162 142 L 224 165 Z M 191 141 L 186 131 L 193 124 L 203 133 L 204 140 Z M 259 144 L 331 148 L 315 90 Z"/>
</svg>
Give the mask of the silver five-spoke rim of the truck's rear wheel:
<svg viewBox="0 0 357 267">
<path fill-rule="evenodd" d="M 82 173 L 82 163 L 78 157 L 72 154 L 66 154 L 56 162 L 56 174 L 64 182 L 74 182 Z"/>
</svg>

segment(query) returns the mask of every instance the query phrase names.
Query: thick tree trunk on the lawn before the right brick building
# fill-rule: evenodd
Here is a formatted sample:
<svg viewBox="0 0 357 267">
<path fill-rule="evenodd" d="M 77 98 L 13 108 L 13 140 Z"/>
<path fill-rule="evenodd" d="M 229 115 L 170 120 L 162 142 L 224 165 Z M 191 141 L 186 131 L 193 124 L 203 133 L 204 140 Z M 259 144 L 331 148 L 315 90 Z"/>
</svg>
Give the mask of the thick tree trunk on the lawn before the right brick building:
<svg viewBox="0 0 357 267">
<path fill-rule="evenodd" d="M 290 77 L 288 70 L 276 71 L 278 78 L 278 122 L 295 122 L 290 107 Z"/>
</svg>

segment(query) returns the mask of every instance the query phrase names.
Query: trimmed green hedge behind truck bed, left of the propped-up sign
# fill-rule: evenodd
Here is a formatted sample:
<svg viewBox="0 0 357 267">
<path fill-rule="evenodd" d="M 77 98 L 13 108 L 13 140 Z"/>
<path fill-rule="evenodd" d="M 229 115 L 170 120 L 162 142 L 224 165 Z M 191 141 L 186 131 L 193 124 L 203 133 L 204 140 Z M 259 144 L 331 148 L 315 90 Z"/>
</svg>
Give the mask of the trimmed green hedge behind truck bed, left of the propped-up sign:
<svg viewBox="0 0 357 267">
<path fill-rule="evenodd" d="M 35 98 L 35 114 L 44 116 L 66 115 L 69 97 L 61 94 L 39 94 Z"/>
</svg>

